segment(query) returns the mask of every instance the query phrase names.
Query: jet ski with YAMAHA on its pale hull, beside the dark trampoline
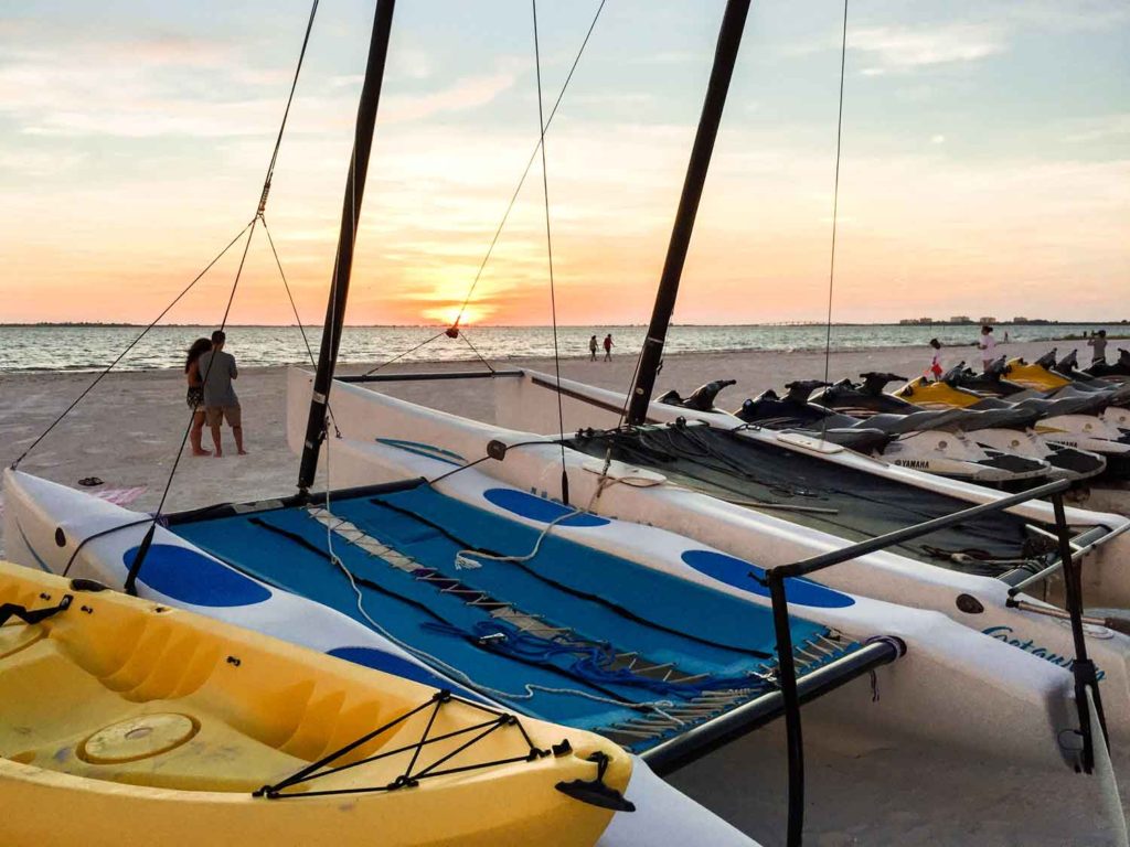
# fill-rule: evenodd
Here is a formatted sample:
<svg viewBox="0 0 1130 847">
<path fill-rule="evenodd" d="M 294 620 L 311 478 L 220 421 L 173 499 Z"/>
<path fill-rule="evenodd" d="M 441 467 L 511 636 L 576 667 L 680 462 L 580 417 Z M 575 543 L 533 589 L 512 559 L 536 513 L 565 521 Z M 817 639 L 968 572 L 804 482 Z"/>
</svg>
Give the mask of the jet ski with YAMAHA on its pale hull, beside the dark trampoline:
<svg viewBox="0 0 1130 847">
<path fill-rule="evenodd" d="M 715 384 L 718 383 L 710 385 Z M 944 477 L 976 479 L 982 482 L 1016 482 L 1043 479 L 1052 471 L 1051 465 L 1038 457 L 986 449 L 968 438 L 963 431 L 963 421 L 966 418 L 975 419 L 977 412 L 956 408 L 923 410 L 912 407 L 909 413 L 877 413 L 861 420 L 809 402 L 809 396 L 816 388 L 827 386 L 828 383 L 818 379 L 792 382 L 785 386 L 788 394 L 784 398 L 777 396 L 772 390 L 766 391 L 746 400 L 733 414 L 746 424 L 802 433 L 861 453 L 881 456 L 895 464 Z M 701 396 L 706 387 L 703 386 L 692 396 Z M 660 402 L 678 405 L 676 398 L 675 392 L 668 392 L 660 398 Z M 858 444 L 854 440 L 857 437 L 864 443 Z M 867 439 L 870 439 L 869 443 Z"/>
</svg>

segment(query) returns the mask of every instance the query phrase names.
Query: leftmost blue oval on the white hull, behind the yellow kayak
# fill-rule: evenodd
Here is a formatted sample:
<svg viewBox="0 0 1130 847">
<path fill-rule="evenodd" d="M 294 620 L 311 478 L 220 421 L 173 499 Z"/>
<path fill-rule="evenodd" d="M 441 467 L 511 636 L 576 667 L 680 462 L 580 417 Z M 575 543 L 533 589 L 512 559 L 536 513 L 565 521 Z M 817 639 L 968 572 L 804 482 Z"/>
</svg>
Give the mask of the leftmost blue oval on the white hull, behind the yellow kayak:
<svg viewBox="0 0 1130 847">
<path fill-rule="evenodd" d="M 122 553 L 127 568 L 133 565 L 137 555 L 137 547 Z M 166 597 L 191 605 L 253 605 L 271 596 L 266 585 L 201 552 L 175 544 L 150 547 L 138 578 Z"/>
</svg>

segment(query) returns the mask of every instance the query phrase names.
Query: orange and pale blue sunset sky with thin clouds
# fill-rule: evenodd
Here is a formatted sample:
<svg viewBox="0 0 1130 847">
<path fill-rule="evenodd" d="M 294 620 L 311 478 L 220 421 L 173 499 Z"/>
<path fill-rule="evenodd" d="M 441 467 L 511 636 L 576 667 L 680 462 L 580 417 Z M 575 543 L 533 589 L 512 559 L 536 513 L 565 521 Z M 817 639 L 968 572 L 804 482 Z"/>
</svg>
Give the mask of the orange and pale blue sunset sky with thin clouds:
<svg viewBox="0 0 1130 847">
<path fill-rule="evenodd" d="M 645 322 L 722 0 L 608 0 L 547 137 L 558 320 Z M 597 10 L 538 3 L 547 108 Z M 0 323 L 148 322 L 251 219 L 306 0 L 0 6 Z M 322 0 L 267 220 L 324 311 L 372 0 Z M 841 2 L 755 2 L 676 320 L 823 320 Z M 852 0 L 833 317 L 1130 317 L 1130 5 Z M 350 323 L 443 322 L 538 134 L 530 3 L 401 0 Z M 169 315 L 219 321 L 238 253 Z M 545 324 L 540 165 L 473 321 Z M 266 238 L 233 323 L 293 317 Z"/>
</svg>

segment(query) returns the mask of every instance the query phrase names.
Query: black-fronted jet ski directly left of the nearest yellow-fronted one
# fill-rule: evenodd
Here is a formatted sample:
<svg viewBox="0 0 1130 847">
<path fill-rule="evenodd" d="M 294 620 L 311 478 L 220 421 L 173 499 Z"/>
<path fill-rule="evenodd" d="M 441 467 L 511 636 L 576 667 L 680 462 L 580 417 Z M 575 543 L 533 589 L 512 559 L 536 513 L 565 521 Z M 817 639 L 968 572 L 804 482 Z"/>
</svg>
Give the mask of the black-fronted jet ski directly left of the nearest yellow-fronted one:
<svg viewBox="0 0 1130 847">
<path fill-rule="evenodd" d="M 887 394 L 887 383 L 905 381 L 897 374 L 868 372 L 860 374 L 861 384 L 842 379 L 826 386 L 811 398 L 811 403 L 853 418 L 870 416 L 921 414 L 922 408 L 903 398 Z M 1081 481 L 1106 469 L 1106 460 L 1097 453 L 1049 442 L 1035 433 L 1040 413 L 1033 409 L 1007 408 L 965 410 L 962 429 L 979 445 L 989 449 L 1037 459 L 1051 465 L 1050 475 Z"/>
</svg>

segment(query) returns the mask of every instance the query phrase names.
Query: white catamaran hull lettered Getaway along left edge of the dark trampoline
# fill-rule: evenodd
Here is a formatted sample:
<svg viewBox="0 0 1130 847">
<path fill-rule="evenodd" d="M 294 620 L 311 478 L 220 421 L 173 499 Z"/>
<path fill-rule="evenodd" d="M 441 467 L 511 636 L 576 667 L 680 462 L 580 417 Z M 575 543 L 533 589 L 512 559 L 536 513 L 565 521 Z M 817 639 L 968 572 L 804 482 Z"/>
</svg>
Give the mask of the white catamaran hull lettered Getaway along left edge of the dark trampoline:
<svg viewBox="0 0 1130 847">
<path fill-rule="evenodd" d="M 296 446 L 302 437 L 296 422 L 302 418 L 303 395 L 308 395 L 310 384 L 308 375 L 298 370 L 292 372 L 290 379 L 289 403 L 294 413 L 289 416 L 289 433 L 292 446 Z M 336 451 L 333 455 L 340 455 L 333 463 L 338 484 L 368 484 L 403 475 L 390 470 L 386 455 L 382 459 L 377 451 L 362 449 L 367 444 L 383 444 L 429 456 L 450 471 L 485 456 L 490 440 L 507 444 L 531 440 L 527 433 L 424 409 L 355 385 L 337 384 L 333 396 L 334 420 L 347 436 L 327 442 L 328 448 Z M 612 462 L 608 474 L 602 474 L 605 469 L 600 460 L 566 449 L 565 461 L 573 504 L 601 515 L 661 526 L 763 567 L 799 561 L 846 544 L 827 533 L 688 491 L 666 482 L 659 474 L 619 462 Z M 487 460 L 475 470 L 515 488 L 556 497 L 560 488 L 560 448 L 547 442 L 515 447 L 503 461 Z M 454 474 L 452 482 L 467 473 L 469 471 Z M 441 488 L 443 484 L 440 483 Z M 974 491 L 983 489 L 974 488 Z M 1033 517 L 1048 519 L 1049 505 L 1035 505 Z M 1086 518 L 1110 521 L 1109 525 L 1115 527 L 1130 525 L 1124 518 L 1071 510 L 1072 523 L 1087 523 Z M 1128 539 L 1130 535 L 1118 541 Z M 1115 541 L 1109 542 L 1113 543 Z M 1124 592 L 1124 574 L 1110 550 L 1105 553 L 1103 548 L 1093 551 L 1084 565 L 1084 573 L 1088 574 L 1086 595 L 1092 602 L 1098 602 L 1093 599 L 1099 592 L 1107 601 L 1120 596 L 1120 591 Z M 824 570 L 818 579 L 857 595 L 941 612 L 980 634 L 1055 665 L 1068 665 L 1074 654 L 1070 629 L 1064 621 L 1009 608 L 1006 604 L 1008 586 L 996 578 L 948 570 L 880 551 Z M 1122 588 L 1116 584 L 1119 580 L 1123 580 Z M 957 603 L 962 595 L 976 599 L 983 611 L 962 611 Z M 1130 594 L 1121 596 L 1130 599 Z M 1025 599 L 1038 604 L 1034 599 Z M 1104 682 L 1113 692 L 1107 711 L 1121 711 L 1123 717 L 1119 722 L 1130 727 L 1130 639 L 1105 627 L 1089 626 L 1087 631 L 1092 658 L 1103 670 Z"/>
</svg>

